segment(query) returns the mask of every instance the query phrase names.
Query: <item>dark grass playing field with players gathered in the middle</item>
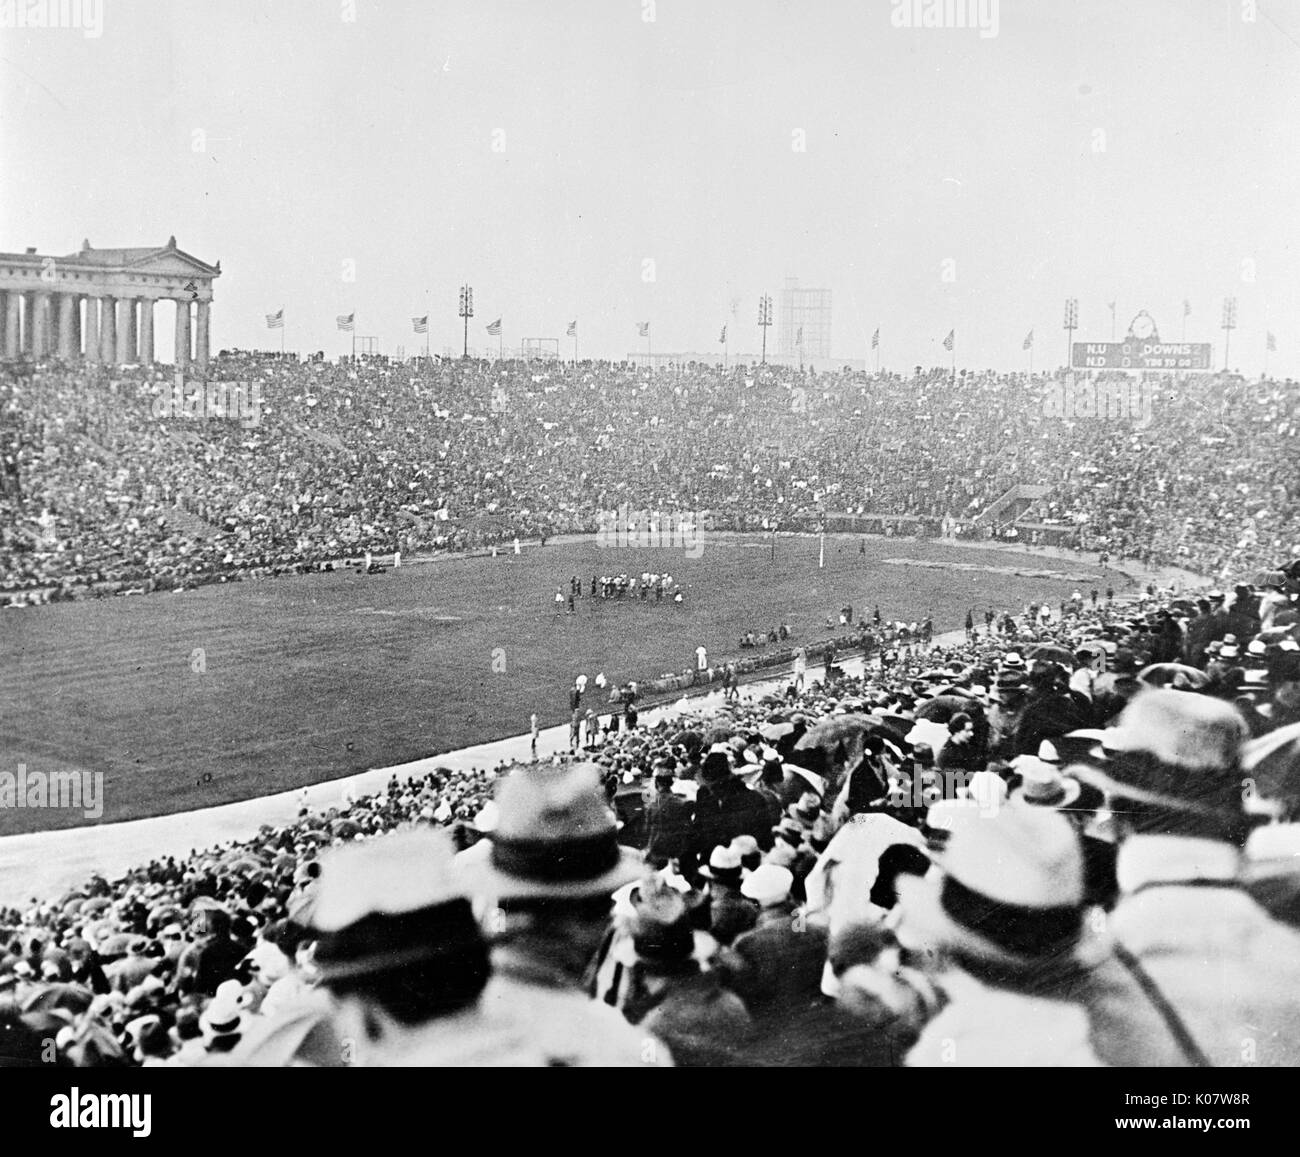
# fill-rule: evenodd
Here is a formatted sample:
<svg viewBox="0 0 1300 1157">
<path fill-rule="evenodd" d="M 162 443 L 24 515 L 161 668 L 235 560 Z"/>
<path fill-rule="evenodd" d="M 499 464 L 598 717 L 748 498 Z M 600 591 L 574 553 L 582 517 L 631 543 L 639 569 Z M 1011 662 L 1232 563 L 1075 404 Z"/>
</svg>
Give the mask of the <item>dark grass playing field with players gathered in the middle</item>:
<svg viewBox="0 0 1300 1157">
<path fill-rule="evenodd" d="M 863 559 L 857 538 L 828 537 L 820 571 L 815 538 L 779 540 L 775 560 L 760 538 L 715 537 L 698 559 L 592 541 L 4 611 L 0 771 L 103 772 L 101 823 L 186 811 L 515 734 L 530 711 L 560 723 L 578 672 L 647 680 L 693 666 L 699 644 L 710 662 L 738 658 L 744 630 L 783 620 L 796 642 L 818 641 L 845 603 L 932 614 L 942 630 L 967 607 L 1018 611 L 1084 585 L 887 558 L 1096 572 L 880 538 Z M 672 573 L 685 602 L 586 597 L 593 573 L 624 569 Z M 567 594 L 575 573 L 577 614 L 556 615 L 555 588 Z M 0 809 L 0 835 L 83 823 L 81 811 Z"/>
</svg>

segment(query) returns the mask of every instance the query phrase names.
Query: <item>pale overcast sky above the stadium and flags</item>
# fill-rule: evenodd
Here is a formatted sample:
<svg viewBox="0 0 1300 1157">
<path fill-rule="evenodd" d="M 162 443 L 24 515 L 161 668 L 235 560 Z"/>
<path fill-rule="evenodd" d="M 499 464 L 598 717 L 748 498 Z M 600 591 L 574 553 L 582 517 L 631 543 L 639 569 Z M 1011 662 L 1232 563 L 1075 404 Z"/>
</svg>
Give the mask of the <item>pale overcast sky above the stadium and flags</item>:
<svg viewBox="0 0 1300 1157">
<path fill-rule="evenodd" d="M 1222 364 L 1235 295 L 1234 365 L 1271 330 L 1300 376 L 1300 5 L 1002 0 L 996 35 L 894 8 L 103 0 L 99 36 L 0 31 L 0 250 L 174 234 L 221 260 L 213 348 L 278 348 L 283 307 L 290 348 L 346 351 L 355 309 L 385 352 L 426 312 L 459 350 L 469 281 L 471 346 L 500 316 L 568 354 L 576 318 L 621 356 L 649 320 L 736 354 L 798 277 L 841 358 L 879 326 L 887 365 L 946 363 L 956 328 L 959 365 L 1023 368 L 1032 329 L 1058 364 L 1066 296 L 1102 341 L 1110 300 L 1179 339 L 1187 298 Z"/>
</svg>

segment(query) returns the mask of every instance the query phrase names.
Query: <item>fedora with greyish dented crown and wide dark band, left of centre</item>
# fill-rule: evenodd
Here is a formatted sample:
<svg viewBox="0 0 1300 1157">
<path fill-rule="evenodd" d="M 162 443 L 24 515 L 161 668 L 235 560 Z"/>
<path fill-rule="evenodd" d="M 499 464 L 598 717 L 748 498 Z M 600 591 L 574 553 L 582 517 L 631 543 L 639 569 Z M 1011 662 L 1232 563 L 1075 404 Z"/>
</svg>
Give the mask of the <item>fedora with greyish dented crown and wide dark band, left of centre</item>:
<svg viewBox="0 0 1300 1157">
<path fill-rule="evenodd" d="M 467 868 L 498 900 L 612 896 L 645 874 L 619 827 L 594 763 L 520 767 L 497 790 L 491 854 Z"/>
</svg>

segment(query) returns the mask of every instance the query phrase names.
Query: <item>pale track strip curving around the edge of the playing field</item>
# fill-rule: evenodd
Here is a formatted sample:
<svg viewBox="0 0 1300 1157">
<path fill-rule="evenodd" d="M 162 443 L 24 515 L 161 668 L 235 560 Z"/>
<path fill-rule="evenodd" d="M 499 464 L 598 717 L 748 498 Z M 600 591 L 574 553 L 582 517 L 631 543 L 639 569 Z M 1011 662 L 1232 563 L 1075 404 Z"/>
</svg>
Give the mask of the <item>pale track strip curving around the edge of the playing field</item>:
<svg viewBox="0 0 1300 1157">
<path fill-rule="evenodd" d="M 728 537 L 732 532 L 727 533 Z M 592 536 L 564 536 L 547 542 L 568 545 L 582 542 Z M 741 536 L 744 537 L 744 536 Z M 783 536 L 784 537 L 784 536 Z M 796 537 L 790 534 L 789 537 Z M 798 534 L 810 538 L 815 536 Z M 861 534 L 828 534 L 831 540 L 857 541 Z M 887 541 L 885 536 L 870 536 Z M 1062 560 L 1080 560 L 1072 551 L 1057 551 L 1052 547 L 1032 549 L 1019 543 L 982 543 L 959 540 L 914 540 L 937 542 L 942 546 L 963 546 L 972 550 L 1004 550 L 1030 556 L 1046 556 Z M 533 545 L 537 549 L 537 545 Z M 429 559 L 441 560 L 443 555 Z M 415 562 L 415 560 L 413 560 Z M 419 559 L 417 562 L 424 562 Z M 1140 564 L 1126 562 L 1112 566 L 1110 571 L 1124 576 L 1132 582 L 1157 581 L 1162 585 L 1166 577 L 1178 578 L 1186 588 L 1204 586 L 1209 580 L 1188 572 L 1147 571 Z M 935 644 L 950 645 L 965 637 L 965 630 L 949 630 L 935 636 Z M 853 675 L 862 673 L 863 660 L 848 658 L 840 660 L 841 667 Z M 789 677 L 789 667 L 771 668 L 755 681 L 741 685 L 742 698 L 762 697 L 772 690 L 784 689 Z M 811 667 L 810 671 L 816 670 Z M 692 710 L 707 710 L 722 703 L 722 689 L 692 696 L 671 696 L 654 705 L 647 705 L 641 712 L 641 724 L 654 725 L 664 712 L 676 711 L 676 705 L 686 698 Z M 603 714 L 603 712 L 602 712 Z M 538 734 L 537 754 L 547 758 L 558 751 L 568 750 L 568 724 L 546 728 Z M 183 857 L 191 850 L 204 850 L 246 840 L 263 824 L 283 827 L 292 823 L 300 809 L 324 811 L 343 802 L 344 792 L 351 796 L 370 794 L 382 789 L 393 776 L 406 781 L 437 767 L 471 770 L 474 767 L 493 768 L 503 760 L 529 758 L 529 737 L 507 736 L 485 744 L 476 744 L 456 751 L 416 759 L 394 767 L 378 767 L 342 779 L 326 780 L 306 788 L 295 788 L 273 796 L 260 796 L 222 803 L 196 811 L 173 812 L 170 815 L 146 819 L 122 820 L 112 824 L 91 824 L 78 828 L 58 828 L 43 832 L 23 832 L 0 837 L 0 904 L 26 905 L 32 898 L 44 901 L 83 884 L 94 872 L 108 879 L 121 876 L 131 868 L 140 867 L 159 857 Z"/>
</svg>

